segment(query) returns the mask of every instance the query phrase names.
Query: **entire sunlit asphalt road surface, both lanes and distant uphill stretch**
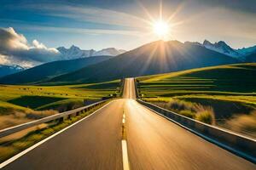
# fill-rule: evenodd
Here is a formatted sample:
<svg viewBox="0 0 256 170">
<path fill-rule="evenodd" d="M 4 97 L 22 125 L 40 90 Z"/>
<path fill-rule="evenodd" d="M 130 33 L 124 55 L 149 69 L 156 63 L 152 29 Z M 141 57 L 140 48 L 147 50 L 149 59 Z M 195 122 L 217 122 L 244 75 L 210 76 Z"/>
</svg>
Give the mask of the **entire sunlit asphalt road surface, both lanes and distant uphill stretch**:
<svg viewBox="0 0 256 170">
<path fill-rule="evenodd" d="M 123 169 L 122 119 L 131 169 L 256 169 L 137 103 L 133 79 L 116 99 L 3 169 Z"/>
</svg>

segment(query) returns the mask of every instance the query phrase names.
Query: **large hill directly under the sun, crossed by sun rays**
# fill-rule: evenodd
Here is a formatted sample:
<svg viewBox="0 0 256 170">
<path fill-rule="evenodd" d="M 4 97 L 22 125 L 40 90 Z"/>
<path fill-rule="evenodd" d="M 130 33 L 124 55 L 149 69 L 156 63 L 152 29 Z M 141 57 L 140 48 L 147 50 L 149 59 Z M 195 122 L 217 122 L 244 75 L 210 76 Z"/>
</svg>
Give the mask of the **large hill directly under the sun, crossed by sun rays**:
<svg viewBox="0 0 256 170">
<path fill-rule="evenodd" d="M 84 67 L 79 71 L 54 77 L 48 82 L 101 82 L 122 77 L 139 77 L 237 62 L 239 62 L 237 59 L 199 45 L 177 41 L 158 41 L 148 43 L 102 63 Z"/>
</svg>

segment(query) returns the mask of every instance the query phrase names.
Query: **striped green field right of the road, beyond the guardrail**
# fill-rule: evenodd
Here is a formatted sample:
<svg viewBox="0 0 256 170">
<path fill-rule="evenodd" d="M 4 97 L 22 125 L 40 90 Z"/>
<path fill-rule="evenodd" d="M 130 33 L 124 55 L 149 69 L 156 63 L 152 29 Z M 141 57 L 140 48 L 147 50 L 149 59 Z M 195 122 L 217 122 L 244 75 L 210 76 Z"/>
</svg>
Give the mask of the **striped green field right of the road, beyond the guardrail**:
<svg viewBox="0 0 256 170">
<path fill-rule="evenodd" d="M 137 80 L 144 100 L 165 107 L 168 107 L 166 104 L 170 100 L 172 105 L 176 102 L 175 105 L 179 106 L 192 104 L 208 107 L 218 126 L 256 137 L 255 63 L 212 66 L 138 77 Z M 176 108 L 176 111 L 182 110 L 183 107 Z M 241 116 L 249 117 L 242 121 L 246 119 L 252 122 L 242 122 Z M 241 128 L 238 129 L 238 126 Z"/>
</svg>

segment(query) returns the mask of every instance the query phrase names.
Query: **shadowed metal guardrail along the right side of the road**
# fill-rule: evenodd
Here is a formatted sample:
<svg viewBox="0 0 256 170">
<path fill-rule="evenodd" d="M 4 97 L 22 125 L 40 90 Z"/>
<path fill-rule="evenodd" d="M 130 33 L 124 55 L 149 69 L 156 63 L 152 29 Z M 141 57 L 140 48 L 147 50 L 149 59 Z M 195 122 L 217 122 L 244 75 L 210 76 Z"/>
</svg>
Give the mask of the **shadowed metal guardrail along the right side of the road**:
<svg viewBox="0 0 256 170">
<path fill-rule="evenodd" d="M 244 157 L 248 161 L 256 163 L 256 139 L 250 139 L 240 134 L 196 121 L 189 117 L 179 115 L 173 111 L 160 108 L 157 105 L 150 104 L 141 99 L 137 99 L 137 102 L 145 105 L 159 115 L 164 116 L 173 122 L 177 122 L 187 128 L 190 132 L 217 144 L 225 150 L 230 150 L 230 152 Z"/>
</svg>

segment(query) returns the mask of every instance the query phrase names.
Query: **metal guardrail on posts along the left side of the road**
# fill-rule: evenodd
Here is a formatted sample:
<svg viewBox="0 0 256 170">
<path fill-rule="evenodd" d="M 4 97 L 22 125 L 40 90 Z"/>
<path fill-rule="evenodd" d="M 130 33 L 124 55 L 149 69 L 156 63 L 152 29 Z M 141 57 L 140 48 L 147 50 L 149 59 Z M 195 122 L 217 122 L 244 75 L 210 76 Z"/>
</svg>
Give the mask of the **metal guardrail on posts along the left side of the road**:
<svg viewBox="0 0 256 170">
<path fill-rule="evenodd" d="M 40 125 L 40 124 L 45 123 L 45 122 L 50 122 L 50 121 L 54 121 L 54 120 L 58 120 L 58 119 L 65 119 L 65 118 L 70 117 L 70 116 L 78 116 L 83 111 L 89 111 L 90 109 L 96 107 L 97 105 L 101 105 L 102 103 L 104 103 L 106 101 L 108 101 L 108 99 L 96 102 L 95 104 L 80 107 L 80 108 L 74 109 L 72 111 L 65 111 L 65 112 L 57 113 L 53 116 L 47 116 L 47 117 L 38 119 L 36 121 L 26 122 L 26 123 L 17 125 L 15 127 L 5 128 L 3 130 L 0 130 L 0 138 L 3 138 L 5 136 L 8 136 L 8 135 L 13 134 L 13 133 L 18 133 L 22 130 L 25 130 L 26 128 L 34 127 L 34 126 Z"/>
</svg>

